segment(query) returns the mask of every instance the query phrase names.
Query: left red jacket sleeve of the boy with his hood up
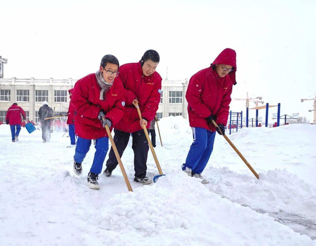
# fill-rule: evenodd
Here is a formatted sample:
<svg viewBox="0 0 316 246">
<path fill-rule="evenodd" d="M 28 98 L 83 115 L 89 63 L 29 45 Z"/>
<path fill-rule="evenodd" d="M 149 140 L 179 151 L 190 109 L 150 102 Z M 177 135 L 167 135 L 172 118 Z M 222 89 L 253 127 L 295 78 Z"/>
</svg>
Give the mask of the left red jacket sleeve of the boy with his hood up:
<svg viewBox="0 0 316 246">
<path fill-rule="evenodd" d="M 202 92 L 202 81 L 196 76 L 193 76 L 189 81 L 185 98 L 189 107 L 192 108 L 197 115 L 201 118 L 207 118 L 212 114 L 212 111 L 202 102 Z"/>
</svg>

